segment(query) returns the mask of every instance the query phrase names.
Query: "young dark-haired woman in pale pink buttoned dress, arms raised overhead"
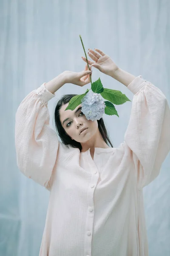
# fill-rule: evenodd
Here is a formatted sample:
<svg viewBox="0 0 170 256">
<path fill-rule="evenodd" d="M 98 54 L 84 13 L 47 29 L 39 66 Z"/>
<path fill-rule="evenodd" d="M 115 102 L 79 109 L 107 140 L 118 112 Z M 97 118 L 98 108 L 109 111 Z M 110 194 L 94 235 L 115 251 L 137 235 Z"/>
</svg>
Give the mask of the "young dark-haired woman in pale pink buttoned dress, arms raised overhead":
<svg viewBox="0 0 170 256">
<path fill-rule="evenodd" d="M 66 83 L 88 84 L 87 65 L 82 72 L 65 71 L 43 83 L 16 113 L 17 165 L 50 191 L 40 256 L 147 256 L 142 189 L 159 175 L 170 151 L 170 108 L 161 90 L 142 76 L 120 69 L 99 49 L 88 54 L 90 68 L 134 94 L 118 148 L 102 118 L 87 120 L 81 105 L 65 111 L 74 94 L 64 95 L 55 109 L 62 142 L 49 125 L 48 101 Z"/>
</svg>

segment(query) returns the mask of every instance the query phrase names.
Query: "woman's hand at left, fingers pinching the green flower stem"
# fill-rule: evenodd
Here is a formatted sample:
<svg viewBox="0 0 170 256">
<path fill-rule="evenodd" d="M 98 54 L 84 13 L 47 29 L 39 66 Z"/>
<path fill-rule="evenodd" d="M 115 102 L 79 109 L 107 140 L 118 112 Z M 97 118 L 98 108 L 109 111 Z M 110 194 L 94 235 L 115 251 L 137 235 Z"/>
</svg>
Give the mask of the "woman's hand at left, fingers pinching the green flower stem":
<svg viewBox="0 0 170 256">
<path fill-rule="evenodd" d="M 90 70 L 88 70 L 88 65 L 86 64 L 85 70 L 81 72 L 72 72 L 72 71 L 64 71 L 64 80 L 65 84 L 71 83 L 76 84 L 78 86 L 84 86 L 85 84 L 90 83 L 90 74 L 91 74 L 91 65 L 89 65 Z"/>
</svg>

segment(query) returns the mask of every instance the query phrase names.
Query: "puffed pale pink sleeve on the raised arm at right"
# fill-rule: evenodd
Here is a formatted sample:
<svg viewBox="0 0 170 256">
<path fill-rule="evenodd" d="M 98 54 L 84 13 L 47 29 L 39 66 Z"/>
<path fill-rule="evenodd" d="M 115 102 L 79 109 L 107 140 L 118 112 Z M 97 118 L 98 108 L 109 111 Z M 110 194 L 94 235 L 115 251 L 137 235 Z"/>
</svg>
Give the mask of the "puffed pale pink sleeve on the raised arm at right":
<svg viewBox="0 0 170 256">
<path fill-rule="evenodd" d="M 170 151 L 170 108 L 159 88 L 136 77 L 127 88 L 134 94 L 124 137 L 134 163 L 137 186 L 153 181 Z"/>
</svg>

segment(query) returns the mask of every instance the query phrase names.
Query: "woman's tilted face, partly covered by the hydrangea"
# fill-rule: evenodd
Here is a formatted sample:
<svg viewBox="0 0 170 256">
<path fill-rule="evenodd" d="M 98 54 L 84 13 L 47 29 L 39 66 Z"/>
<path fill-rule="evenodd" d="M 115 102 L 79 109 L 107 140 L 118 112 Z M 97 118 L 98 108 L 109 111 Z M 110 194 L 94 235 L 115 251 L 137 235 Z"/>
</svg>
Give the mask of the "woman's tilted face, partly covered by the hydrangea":
<svg viewBox="0 0 170 256">
<path fill-rule="evenodd" d="M 85 115 L 81 112 L 81 104 L 77 106 L 73 111 L 66 110 L 68 103 L 62 105 L 59 110 L 60 121 L 62 127 L 65 129 L 66 133 L 79 143 L 85 143 L 90 140 L 98 131 L 98 122 L 87 120 Z M 87 128 L 84 132 L 80 134 L 82 128 Z"/>
</svg>

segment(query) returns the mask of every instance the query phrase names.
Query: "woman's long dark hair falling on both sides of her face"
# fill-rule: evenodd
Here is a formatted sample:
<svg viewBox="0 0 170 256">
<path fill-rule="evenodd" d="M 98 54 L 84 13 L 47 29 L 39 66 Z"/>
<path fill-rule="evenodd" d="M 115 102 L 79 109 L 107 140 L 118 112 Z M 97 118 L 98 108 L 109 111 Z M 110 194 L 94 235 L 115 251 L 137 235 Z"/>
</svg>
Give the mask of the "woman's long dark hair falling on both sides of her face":
<svg viewBox="0 0 170 256">
<path fill-rule="evenodd" d="M 71 137 L 66 133 L 65 129 L 62 127 L 62 124 L 59 119 L 59 110 L 62 107 L 62 105 L 67 104 L 70 101 L 70 99 L 76 95 L 77 94 L 65 94 L 62 96 L 61 99 L 59 99 L 59 101 L 57 102 L 57 105 L 55 107 L 54 119 L 55 119 L 56 130 L 57 130 L 59 137 L 61 138 L 62 143 L 67 145 L 67 147 L 68 147 L 68 145 L 70 145 L 73 148 L 79 148 L 79 150 L 81 151 L 82 150 L 81 143 L 77 142 L 76 140 L 71 139 Z M 103 119 L 100 118 L 99 120 L 97 120 L 97 122 L 98 122 L 99 132 L 102 135 L 103 140 L 105 141 L 105 143 L 107 143 L 107 145 L 108 145 L 108 143 L 110 143 L 111 147 L 113 148 L 111 140 L 109 139 L 109 136 L 108 136 L 108 132 L 105 128 L 105 123 L 104 123 Z"/>
</svg>

